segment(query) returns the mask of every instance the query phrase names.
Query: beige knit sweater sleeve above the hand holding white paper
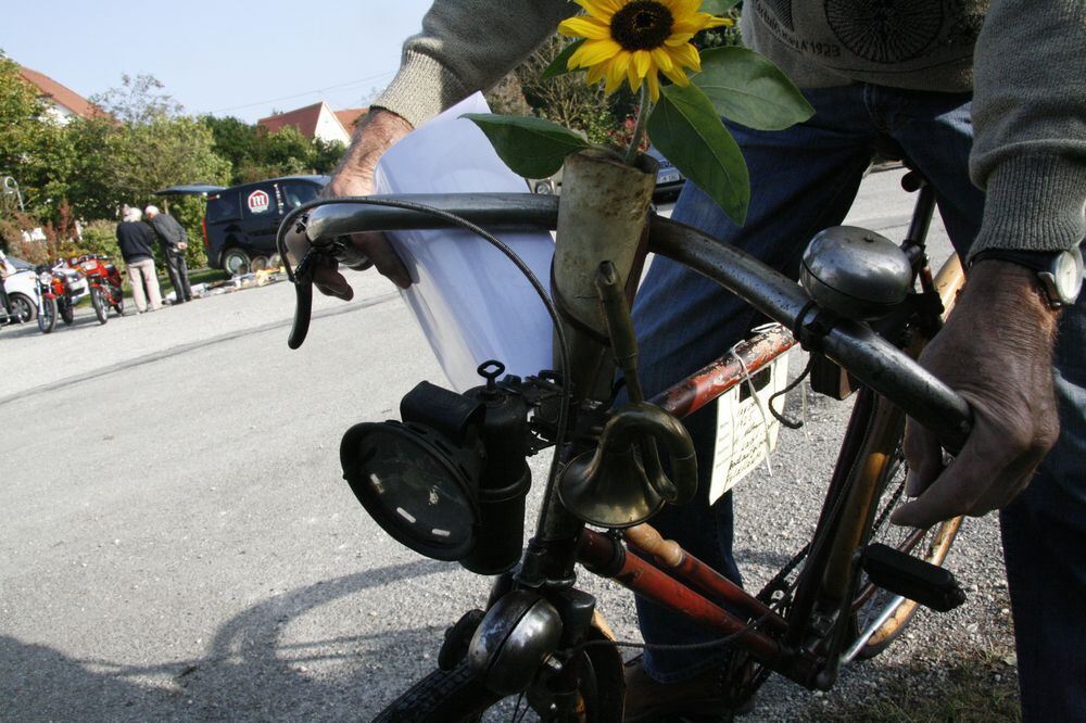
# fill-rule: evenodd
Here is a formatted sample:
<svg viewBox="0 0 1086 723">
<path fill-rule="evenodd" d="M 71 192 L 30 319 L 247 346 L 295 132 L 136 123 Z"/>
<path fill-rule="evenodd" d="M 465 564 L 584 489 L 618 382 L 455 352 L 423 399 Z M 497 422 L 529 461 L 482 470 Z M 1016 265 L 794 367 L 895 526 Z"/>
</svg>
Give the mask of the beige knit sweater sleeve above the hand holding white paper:
<svg viewBox="0 0 1086 723">
<path fill-rule="evenodd" d="M 577 11 L 567 0 L 435 0 L 374 105 L 417 127 L 491 88 Z"/>
</svg>

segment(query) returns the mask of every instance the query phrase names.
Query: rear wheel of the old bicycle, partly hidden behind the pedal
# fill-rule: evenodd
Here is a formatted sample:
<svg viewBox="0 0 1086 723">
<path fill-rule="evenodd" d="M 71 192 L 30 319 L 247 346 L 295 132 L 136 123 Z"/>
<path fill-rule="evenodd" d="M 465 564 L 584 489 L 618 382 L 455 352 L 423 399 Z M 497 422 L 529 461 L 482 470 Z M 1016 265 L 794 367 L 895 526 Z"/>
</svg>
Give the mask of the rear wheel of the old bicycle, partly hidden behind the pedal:
<svg viewBox="0 0 1086 723">
<path fill-rule="evenodd" d="M 964 281 L 961 264 L 956 256 L 951 256 L 935 278 L 935 286 L 945 309 L 944 318 L 954 308 Z M 919 347 L 912 352 L 919 356 Z M 886 403 L 880 399 L 879 404 Z M 904 415 L 898 413 L 898 416 L 901 417 L 898 427 L 900 431 L 897 432 L 898 443 L 895 445 L 895 452 L 885 457 L 885 461 L 879 470 L 877 480 L 881 492 L 874 508 L 875 517 L 871 530 L 866 535 L 866 543 L 882 543 L 909 555 L 914 555 L 918 559 L 931 565 L 942 566 L 950 551 L 958 530 L 961 528 L 961 517 L 936 523 L 925 530 L 899 528 L 889 523 L 889 517 L 894 509 L 901 504 L 905 478 L 908 472 L 900 441 L 905 431 Z M 862 458 L 864 452 L 867 451 L 861 451 L 858 458 Z M 918 604 L 914 600 L 899 599 L 872 585 L 866 576 L 861 576 L 853 601 L 851 622 L 856 636 L 866 633 L 880 618 L 885 618 L 885 621 L 871 634 L 856 657 L 861 660 L 870 659 L 889 647 L 894 640 L 900 637 L 915 614 L 917 608 Z"/>
</svg>

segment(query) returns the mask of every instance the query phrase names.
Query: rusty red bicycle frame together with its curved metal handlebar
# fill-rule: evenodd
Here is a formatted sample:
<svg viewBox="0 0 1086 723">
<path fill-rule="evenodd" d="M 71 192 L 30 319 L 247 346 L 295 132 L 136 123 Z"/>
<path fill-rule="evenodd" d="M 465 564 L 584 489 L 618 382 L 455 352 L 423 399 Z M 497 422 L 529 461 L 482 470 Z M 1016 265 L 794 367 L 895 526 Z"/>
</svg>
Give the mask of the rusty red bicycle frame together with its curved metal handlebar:
<svg viewBox="0 0 1086 723">
<path fill-rule="evenodd" d="M 295 213 L 308 214 L 305 231 L 311 241 L 362 231 L 450 226 L 446 220 L 411 208 L 371 205 L 380 204 L 382 198 L 438 208 L 489 229 L 554 229 L 558 205 L 554 196 L 532 194 L 400 195 L 370 196 L 357 203 L 341 199 L 333 205 L 312 204 Z M 922 190 L 910 229 L 910 237 L 920 242 L 921 249 L 933 207 L 931 192 Z M 856 548 L 863 544 L 882 492 L 880 485 L 885 484 L 885 480 L 877 479 L 877 466 L 872 460 L 884 461 L 895 452 L 887 445 L 896 445 L 906 415 L 934 431 L 947 449 L 957 452 L 970 429 L 969 407 L 867 325 L 839 318 L 826 324 L 798 284 L 742 250 L 659 216 L 653 215 L 648 226 L 649 252 L 685 264 L 781 325 L 741 343 L 729 355 L 658 394 L 652 403 L 675 417 L 689 415 L 801 342 L 805 348 L 839 364 L 866 388 L 854 408 L 854 422 L 849 423 L 841 452 L 841 459 L 854 456 L 857 461 L 841 469 L 838 459 L 815 532 L 810 562 L 803 569 L 786 616 L 675 543 L 661 540 L 647 524 L 627 530 L 624 545 L 616 533 L 586 528 L 561 508 L 554 490 L 543 502 L 551 515 L 529 543 L 519 581 L 534 589 L 568 588 L 574 579 L 574 561 L 580 562 L 590 572 L 611 578 L 692 621 L 735 636 L 737 648 L 800 685 L 828 688 L 836 678 L 842 652 L 851 638 L 843 623 L 812 635 L 812 612 L 816 605 L 824 605 L 828 599 L 842 613 L 849 612 L 854 604 Z M 944 306 L 950 306 L 962 280 L 960 265 L 948 264 L 936 279 L 927 271 L 925 258 L 917 267 L 922 286 L 939 291 Z M 304 338 L 308 321 L 305 305 L 300 291 L 292 340 L 299 334 Z M 568 459 L 571 451 L 561 454 Z M 952 536 L 952 529 L 949 534 Z M 508 589 L 509 584 L 509 580 L 500 581 L 498 587 Z M 501 593 L 495 588 L 491 600 Z M 725 605 L 745 617 L 728 611 Z M 877 635 L 877 631 L 867 634 Z"/>
</svg>

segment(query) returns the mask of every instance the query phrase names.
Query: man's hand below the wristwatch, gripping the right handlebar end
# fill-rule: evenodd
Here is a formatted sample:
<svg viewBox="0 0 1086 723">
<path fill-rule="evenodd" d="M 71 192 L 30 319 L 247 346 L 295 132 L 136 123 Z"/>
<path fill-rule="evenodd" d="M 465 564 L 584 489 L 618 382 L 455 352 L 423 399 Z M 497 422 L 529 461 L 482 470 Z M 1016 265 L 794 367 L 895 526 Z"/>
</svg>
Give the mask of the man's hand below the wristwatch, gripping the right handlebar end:
<svg viewBox="0 0 1086 723">
<path fill-rule="evenodd" d="M 935 436 L 909 421 L 906 494 L 919 497 L 891 518 L 927 527 L 958 515 L 1005 507 L 1030 484 L 1056 444 L 1060 423 L 1052 390 L 1057 313 L 1043 300 L 1034 271 L 983 261 L 946 328 L 920 357 L 973 408 L 973 431 L 944 469 Z"/>
</svg>

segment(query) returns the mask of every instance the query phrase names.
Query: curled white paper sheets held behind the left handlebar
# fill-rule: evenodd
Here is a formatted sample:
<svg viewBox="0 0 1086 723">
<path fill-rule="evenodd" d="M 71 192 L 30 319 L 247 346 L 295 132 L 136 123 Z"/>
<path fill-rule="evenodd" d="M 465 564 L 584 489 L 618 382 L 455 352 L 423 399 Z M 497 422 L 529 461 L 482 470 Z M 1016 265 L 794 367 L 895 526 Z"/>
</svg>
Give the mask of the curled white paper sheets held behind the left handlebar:
<svg viewBox="0 0 1086 723">
<path fill-rule="evenodd" d="M 459 117 L 489 112 L 476 93 L 411 132 L 381 157 L 377 192 L 527 192 L 528 183 L 502 163 L 478 126 Z M 519 376 L 552 368 L 546 309 L 497 249 L 458 230 L 396 231 L 389 237 L 413 280 L 401 294 L 457 391 L 482 383 L 476 368 L 489 359 Z M 498 238 L 550 291 L 551 234 L 503 232 Z"/>
</svg>

